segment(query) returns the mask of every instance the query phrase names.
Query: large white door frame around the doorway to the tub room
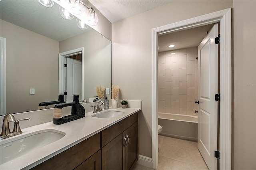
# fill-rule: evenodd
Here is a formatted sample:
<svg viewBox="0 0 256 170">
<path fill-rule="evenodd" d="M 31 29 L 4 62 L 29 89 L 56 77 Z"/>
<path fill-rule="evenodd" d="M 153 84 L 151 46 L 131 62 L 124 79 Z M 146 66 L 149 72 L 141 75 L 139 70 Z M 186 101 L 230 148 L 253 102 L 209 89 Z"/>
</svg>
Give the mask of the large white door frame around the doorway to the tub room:
<svg viewBox="0 0 256 170">
<path fill-rule="evenodd" d="M 153 29 L 152 168 L 158 167 L 158 35 L 220 22 L 220 170 L 231 169 L 231 8 Z"/>
</svg>

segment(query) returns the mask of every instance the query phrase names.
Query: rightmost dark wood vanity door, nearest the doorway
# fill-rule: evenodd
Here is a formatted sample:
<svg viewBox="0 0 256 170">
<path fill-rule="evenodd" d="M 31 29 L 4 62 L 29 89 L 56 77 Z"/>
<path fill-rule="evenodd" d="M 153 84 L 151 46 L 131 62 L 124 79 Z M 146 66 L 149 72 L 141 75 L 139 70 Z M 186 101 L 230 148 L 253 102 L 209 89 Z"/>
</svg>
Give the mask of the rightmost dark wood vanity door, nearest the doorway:
<svg viewBox="0 0 256 170">
<path fill-rule="evenodd" d="M 138 122 L 125 131 L 128 144 L 125 146 L 126 170 L 130 170 L 138 161 Z"/>
</svg>

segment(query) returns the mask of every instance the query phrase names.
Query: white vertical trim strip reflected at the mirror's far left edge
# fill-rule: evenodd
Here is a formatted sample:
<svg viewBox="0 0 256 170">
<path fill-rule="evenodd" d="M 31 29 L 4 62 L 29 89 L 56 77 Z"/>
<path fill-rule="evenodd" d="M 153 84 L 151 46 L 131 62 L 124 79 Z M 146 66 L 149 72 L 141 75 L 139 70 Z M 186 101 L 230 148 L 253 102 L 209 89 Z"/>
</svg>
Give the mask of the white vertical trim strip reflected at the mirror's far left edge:
<svg viewBox="0 0 256 170">
<path fill-rule="evenodd" d="M 0 115 L 6 114 L 6 38 L 0 37 Z"/>
</svg>

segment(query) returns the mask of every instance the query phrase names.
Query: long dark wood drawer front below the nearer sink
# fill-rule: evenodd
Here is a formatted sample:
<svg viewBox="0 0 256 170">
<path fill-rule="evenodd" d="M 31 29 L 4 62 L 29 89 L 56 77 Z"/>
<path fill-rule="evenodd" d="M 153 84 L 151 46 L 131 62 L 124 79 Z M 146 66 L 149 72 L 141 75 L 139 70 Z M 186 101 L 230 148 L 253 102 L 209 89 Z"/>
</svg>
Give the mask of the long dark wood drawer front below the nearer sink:
<svg viewBox="0 0 256 170">
<path fill-rule="evenodd" d="M 42 162 L 32 170 L 73 170 L 100 150 L 100 132 Z"/>
</svg>

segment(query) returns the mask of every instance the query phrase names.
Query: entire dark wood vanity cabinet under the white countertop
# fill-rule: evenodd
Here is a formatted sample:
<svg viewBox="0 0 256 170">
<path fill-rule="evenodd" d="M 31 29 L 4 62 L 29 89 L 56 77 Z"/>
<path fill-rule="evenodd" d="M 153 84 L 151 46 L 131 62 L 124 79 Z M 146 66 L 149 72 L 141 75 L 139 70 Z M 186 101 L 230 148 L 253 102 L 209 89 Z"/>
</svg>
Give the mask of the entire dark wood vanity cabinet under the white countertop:
<svg viewBox="0 0 256 170">
<path fill-rule="evenodd" d="M 130 170 L 137 160 L 138 113 L 134 113 L 32 170 Z"/>
</svg>

